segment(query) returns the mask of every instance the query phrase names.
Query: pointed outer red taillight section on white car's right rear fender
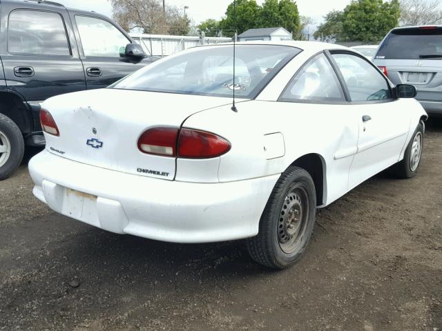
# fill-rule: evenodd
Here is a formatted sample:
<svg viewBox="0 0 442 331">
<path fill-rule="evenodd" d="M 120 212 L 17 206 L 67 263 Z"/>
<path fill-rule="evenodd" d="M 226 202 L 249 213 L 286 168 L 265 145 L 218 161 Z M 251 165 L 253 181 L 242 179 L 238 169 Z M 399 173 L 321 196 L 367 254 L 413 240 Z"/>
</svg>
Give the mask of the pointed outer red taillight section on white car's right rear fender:
<svg viewBox="0 0 442 331">
<path fill-rule="evenodd" d="M 209 159 L 229 152 L 229 141 L 216 134 L 182 129 L 178 141 L 178 156 L 191 159 Z"/>
</svg>

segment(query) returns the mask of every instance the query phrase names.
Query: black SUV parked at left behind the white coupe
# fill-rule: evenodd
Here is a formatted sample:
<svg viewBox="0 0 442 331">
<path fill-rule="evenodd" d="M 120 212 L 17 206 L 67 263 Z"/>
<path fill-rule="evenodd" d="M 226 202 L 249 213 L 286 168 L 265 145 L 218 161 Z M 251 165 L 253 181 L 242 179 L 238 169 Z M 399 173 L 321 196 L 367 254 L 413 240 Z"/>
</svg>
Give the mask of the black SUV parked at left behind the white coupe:
<svg viewBox="0 0 442 331">
<path fill-rule="evenodd" d="M 108 17 L 43 0 L 0 0 L 0 180 L 44 146 L 39 103 L 105 88 L 151 63 Z"/>
</svg>

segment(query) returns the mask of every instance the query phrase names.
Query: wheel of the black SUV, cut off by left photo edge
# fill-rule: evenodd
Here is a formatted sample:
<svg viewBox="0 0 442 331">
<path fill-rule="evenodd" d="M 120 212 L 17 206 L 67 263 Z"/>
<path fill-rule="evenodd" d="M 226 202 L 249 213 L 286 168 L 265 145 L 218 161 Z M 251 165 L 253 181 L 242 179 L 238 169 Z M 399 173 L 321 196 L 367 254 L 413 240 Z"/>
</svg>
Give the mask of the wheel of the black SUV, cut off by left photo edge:
<svg viewBox="0 0 442 331">
<path fill-rule="evenodd" d="M 17 124 L 3 114 L 0 114 L 0 134 L 3 134 L 3 139 L 6 137 L 10 143 L 10 153 L 8 157 L 3 157 L 3 161 L 1 161 L 1 156 L 3 154 L 6 155 L 6 153 L 0 154 L 0 181 L 3 181 L 3 179 L 8 178 L 17 170 L 21 160 L 23 160 L 25 142 L 23 140 L 23 134 L 21 134 Z M 3 146 L 1 139 L 0 146 Z"/>
</svg>

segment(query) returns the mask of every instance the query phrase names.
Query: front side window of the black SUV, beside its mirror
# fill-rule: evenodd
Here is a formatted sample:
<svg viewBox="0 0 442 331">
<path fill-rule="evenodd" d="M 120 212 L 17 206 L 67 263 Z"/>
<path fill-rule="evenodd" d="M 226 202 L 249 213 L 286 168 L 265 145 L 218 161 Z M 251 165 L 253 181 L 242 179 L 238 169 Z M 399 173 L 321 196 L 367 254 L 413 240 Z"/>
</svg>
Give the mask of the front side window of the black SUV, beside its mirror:
<svg viewBox="0 0 442 331">
<path fill-rule="evenodd" d="M 104 19 L 77 15 L 75 21 L 86 57 L 120 57 L 124 55 L 126 45 L 131 43 Z"/>
</svg>

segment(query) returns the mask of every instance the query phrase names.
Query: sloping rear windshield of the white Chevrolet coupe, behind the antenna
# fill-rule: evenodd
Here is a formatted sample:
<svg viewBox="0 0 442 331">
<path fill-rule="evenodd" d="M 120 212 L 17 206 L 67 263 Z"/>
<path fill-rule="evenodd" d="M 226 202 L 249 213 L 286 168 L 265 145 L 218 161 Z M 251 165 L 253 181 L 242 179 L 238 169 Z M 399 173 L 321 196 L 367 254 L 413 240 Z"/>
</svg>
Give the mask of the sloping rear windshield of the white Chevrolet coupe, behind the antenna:
<svg viewBox="0 0 442 331">
<path fill-rule="evenodd" d="M 209 46 L 146 66 L 110 88 L 254 99 L 301 50 L 289 46 Z"/>
</svg>

